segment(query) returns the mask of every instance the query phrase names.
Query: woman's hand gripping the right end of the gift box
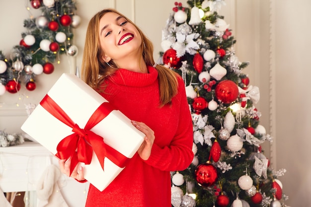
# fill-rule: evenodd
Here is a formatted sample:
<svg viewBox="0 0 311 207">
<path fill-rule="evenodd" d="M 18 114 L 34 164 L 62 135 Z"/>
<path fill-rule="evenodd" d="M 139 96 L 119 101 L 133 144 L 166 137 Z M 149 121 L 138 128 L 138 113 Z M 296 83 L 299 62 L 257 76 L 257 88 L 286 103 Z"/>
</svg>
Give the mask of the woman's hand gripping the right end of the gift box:
<svg viewBox="0 0 311 207">
<path fill-rule="evenodd" d="M 152 145 L 155 141 L 155 133 L 152 129 L 150 129 L 145 123 L 143 122 L 136 122 L 132 121 L 133 126 L 135 126 L 139 131 L 144 133 L 145 141 L 138 149 L 138 154 L 143 160 L 147 160 L 150 157 Z"/>
</svg>

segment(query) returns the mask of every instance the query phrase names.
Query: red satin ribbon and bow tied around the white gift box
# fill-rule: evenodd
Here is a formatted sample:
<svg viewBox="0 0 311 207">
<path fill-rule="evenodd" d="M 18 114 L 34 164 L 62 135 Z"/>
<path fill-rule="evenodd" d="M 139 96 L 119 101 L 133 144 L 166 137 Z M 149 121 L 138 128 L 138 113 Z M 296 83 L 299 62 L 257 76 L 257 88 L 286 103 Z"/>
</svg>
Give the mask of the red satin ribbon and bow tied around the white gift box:
<svg viewBox="0 0 311 207">
<path fill-rule="evenodd" d="M 73 172 L 78 162 L 90 164 L 93 150 L 104 169 L 104 158 L 107 157 L 117 166 L 125 167 L 128 157 L 124 156 L 114 148 L 105 144 L 104 138 L 96 135 L 90 129 L 103 120 L 115 108 L 109 102 L 103 102 L 92 114 L 86 123 L 84 129 L 79 128 L 63 109 L 49 96 L 46 95 L 40 105 L 55 118 L 73 128 L 74 134 L 63 138 L 57 145 L 56 156 L 60 159 L 69 159 L 71 157 L 70 174 Z"/>
</svg>

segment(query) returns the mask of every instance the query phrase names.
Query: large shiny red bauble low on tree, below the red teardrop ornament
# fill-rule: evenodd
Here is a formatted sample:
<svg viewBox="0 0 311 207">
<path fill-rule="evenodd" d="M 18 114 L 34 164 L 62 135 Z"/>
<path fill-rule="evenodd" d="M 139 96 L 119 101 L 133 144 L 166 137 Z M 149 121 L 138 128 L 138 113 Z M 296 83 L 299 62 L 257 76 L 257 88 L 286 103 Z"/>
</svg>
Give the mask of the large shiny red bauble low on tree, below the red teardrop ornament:
<svg viewBox="0 0 311 207">
<path fill-rule="evenodd" d="M 195 180 L 203 187 L 213 185 L 218 178 L 216 168 L 210 163 L 200 164 L 194 173 Z"/>
</svg>

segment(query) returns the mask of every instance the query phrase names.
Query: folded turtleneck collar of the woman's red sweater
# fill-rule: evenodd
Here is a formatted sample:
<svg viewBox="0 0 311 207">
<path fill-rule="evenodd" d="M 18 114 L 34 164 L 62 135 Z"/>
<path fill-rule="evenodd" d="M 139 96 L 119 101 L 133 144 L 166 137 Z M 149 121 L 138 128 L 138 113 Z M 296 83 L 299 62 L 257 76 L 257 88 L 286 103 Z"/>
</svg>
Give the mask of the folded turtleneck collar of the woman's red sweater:
<svg viewBox="0 0 311 207">
<path fill-rule="evenodd" d="M 143 87 L 150 85 L 156 81 L 157 70 L 152 66 L 147 66 L 149 73 L 133 72 L 127 69 L 118 69 L 109 79 L 116 84 Z"/>
</svg>

